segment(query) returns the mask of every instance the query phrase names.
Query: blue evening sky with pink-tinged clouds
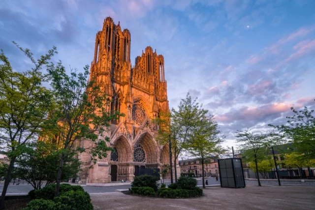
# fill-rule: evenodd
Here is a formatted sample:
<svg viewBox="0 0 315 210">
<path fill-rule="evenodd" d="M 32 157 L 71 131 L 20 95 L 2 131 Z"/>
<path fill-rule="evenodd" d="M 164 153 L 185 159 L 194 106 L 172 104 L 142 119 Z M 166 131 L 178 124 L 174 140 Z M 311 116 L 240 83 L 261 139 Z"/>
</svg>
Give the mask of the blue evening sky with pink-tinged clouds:
<svg viewBox="0 0 315 210">
<path fill-rule="evenodd" d="M 270 129 L 290 107 L 315 109 L 314 0 L 1 0 L 0 49 L 17 71 L 56 46 L 69 70 L 94 57 L 110 16 L 131 33 L 134 63 L 146 46 L 164 56 L 170 108 L 187 92 L 236 146 L 237 130 Z"/>
</svg>

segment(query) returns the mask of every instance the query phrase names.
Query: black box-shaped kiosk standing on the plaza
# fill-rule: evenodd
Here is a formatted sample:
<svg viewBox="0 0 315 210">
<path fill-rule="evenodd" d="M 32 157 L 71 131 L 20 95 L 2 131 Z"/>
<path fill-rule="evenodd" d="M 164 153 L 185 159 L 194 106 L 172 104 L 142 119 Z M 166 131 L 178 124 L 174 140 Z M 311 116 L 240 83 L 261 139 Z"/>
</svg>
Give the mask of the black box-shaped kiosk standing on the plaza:
<svg viewBox="0 0 315 210">
<path fill-rule="evenodd" d="M 221 187 L 245 187 L 241 158 L 218 159 Z"/>
</svg>

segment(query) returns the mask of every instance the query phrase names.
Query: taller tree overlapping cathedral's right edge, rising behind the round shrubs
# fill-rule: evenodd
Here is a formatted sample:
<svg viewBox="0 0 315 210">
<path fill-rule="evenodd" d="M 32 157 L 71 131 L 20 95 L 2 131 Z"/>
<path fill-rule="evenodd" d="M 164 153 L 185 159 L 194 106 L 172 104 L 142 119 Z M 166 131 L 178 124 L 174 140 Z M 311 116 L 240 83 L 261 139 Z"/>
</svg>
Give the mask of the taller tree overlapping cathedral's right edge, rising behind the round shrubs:
<svg viewBox="0 0 315 210">
<path fill-rule="evenodd" d="M 160 125 L 157 139 L 160 143 L 168 144 L 168 136 L 171 136 L 172 150 L 174 154 L 175 181 L 177 181 L 176 160 L 182 151 L 186 150 L 187 142 L 197 125 L 198 120 L 207 114 L 199 103 L 197 98 L 191 99 L 189 93 L 182 99 L 178 110 L 172 108 L 170 113 L 161 113 L 156 119 Z"/>
</svg>

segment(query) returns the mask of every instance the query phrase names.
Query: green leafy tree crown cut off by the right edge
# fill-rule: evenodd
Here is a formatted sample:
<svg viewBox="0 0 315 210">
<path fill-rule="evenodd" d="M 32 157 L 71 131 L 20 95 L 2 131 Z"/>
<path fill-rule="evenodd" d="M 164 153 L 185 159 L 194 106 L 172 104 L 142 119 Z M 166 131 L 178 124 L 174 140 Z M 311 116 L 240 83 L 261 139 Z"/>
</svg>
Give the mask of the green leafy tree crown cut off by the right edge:
<svg viewBox="0 0 315 210">
<path fill-rule="evenodd" d="M 303 154 L 303 159 L 315 159 L 315 116 L 314 110 L 304 107 L 303 110 L 297 111 L 291 107 L 292 117 L 288 119 L 285 125 L 271 125 L 279 130 L 282 138 L 290 140 L 296 152 Z"/>
</svg>

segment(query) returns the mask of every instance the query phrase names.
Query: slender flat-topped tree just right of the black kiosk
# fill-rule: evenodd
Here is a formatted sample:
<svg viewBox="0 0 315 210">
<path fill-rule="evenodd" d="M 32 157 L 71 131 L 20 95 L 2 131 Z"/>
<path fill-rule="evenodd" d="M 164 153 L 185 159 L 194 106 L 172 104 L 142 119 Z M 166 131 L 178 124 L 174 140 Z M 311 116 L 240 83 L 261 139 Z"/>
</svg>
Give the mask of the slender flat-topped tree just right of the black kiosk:
<svg viewBox="0 0 315 210">
<path fill-rule="evenodd" d="M 250 129 L 238 131 L 235 134 L 237 143 L 240 143 L 239 149 L 245 151 L 244 156 L 255 163 L 255 171 L 258 180 L 258 186 L 261 186 L 258 175 L 258 161 L 266 154 L 266 147 L 273 145 L 275 139 L 269 133 L 253 133 Z"/>
</svg>

